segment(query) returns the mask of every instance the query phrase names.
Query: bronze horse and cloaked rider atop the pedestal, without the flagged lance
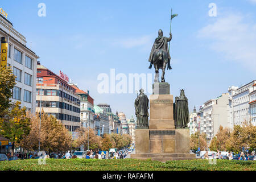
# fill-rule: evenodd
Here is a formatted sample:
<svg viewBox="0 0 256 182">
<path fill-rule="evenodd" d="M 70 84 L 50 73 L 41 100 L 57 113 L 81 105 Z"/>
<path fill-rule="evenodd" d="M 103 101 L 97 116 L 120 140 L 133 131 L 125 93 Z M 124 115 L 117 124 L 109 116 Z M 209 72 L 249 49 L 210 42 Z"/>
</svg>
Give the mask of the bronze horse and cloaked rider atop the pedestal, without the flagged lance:
<svg viewBox="0 0 256 182">
<path fill-rule="evenodd" d="M 150 61 L 150 67 L 152 68 L 152 64 L 154 64 L 155 73 L 159 73 L 159 69 L 162 69 L 162 77 L 161 81 L 165 82 L 164 80 L 164 74 L 167 69 L 172 69 L 170 65 L 170 52 L 168 49 L 168 42 L 170 42 L 172 39 L 172 34 L 170 33 L 170 37 L 167 38 L 166 36 L 163 36 L 163 31 L 160 29 L 158 31 L 158 38 L 155 39 L 154 45 L 150 52 L 150 57 L 148 61 Z"/>
</svg>

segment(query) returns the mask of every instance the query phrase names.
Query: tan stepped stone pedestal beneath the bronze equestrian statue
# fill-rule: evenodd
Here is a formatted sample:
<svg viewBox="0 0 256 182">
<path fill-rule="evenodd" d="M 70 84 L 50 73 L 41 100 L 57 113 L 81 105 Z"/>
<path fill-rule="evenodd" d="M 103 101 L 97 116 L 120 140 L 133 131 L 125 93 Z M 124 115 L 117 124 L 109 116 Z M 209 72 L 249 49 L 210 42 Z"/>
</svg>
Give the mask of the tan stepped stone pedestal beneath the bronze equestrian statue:
<svg viewBox="0 0 256 182">
<path fill-rule="evenodd" d="M 156 86 L 159 89 L 156 89 Z M 152 160 L 195 159 L 189 154 L 189 129 L 175 129 L 174 98 L 167 82 L 155 82 L 150 96 L 149 129 L 135 131 L 136 154 L 131 158 Z M 155 94 L 159 91 L 159 94 Z"/>
</svg>

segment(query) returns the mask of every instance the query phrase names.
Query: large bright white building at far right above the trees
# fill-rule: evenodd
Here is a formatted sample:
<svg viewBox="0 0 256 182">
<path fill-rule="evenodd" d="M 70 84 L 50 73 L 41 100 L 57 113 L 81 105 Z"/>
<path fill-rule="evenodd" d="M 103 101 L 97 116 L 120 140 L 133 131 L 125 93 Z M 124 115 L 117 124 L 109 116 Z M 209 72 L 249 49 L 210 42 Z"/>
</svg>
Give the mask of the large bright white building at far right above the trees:
<svg viewBox="0 0 256 182">
<path fill-rule="evenodd" d="M 237 88 L 232 86 L 229 88 L 229 107 L 230 107 L 230 122 L 232 122 L 232 128 L 234 125 L 242 125 L 246 121 L 250 121 L 250 104 L 253 102 L 253 92 L 256 80 L 249 82 L 246 85 Z M 250 97 L 251 96 L 251 97 Z M 232 119 L 231 119 L 232 118 Z M 255 122 L 254 122 L 255 125 Z"/>
</svg>

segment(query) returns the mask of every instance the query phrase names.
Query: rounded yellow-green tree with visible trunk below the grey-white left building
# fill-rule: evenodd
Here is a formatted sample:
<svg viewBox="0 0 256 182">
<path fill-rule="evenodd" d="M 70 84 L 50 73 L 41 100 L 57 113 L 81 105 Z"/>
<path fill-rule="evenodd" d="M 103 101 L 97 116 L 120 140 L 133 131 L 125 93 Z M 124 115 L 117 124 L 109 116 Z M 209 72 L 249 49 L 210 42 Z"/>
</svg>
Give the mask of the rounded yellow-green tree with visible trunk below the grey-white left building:
<svg viewBox="0 0 256 182">
<path fill-rule="evenodd" d="M 15 143 L 20 143 L 21 140 L 30 133 L 31 122 L 27 117 L 26 107 L 20 109 L 20 102 L 16 102 L 11 106 L 8 116 L 0 124 L 0 135 L 10 140 L 12 143 L 11 155 L 13 156 Z"/>
</svg>

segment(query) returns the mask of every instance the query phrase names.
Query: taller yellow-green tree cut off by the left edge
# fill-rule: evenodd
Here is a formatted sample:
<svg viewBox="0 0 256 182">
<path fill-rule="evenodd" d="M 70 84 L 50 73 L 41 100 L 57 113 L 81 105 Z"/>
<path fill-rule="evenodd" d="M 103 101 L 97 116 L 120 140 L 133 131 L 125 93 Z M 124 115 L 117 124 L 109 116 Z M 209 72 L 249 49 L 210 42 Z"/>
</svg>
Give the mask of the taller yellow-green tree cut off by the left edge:
<svg viewBox="0 0 256 182">
<path fill-rule="evenodd" d="M 10 67 L 0 67 L 0 119 L 5 117 L 11 106 L 10 98 L 13 96 L 15 77 Z"/>
</svg>

